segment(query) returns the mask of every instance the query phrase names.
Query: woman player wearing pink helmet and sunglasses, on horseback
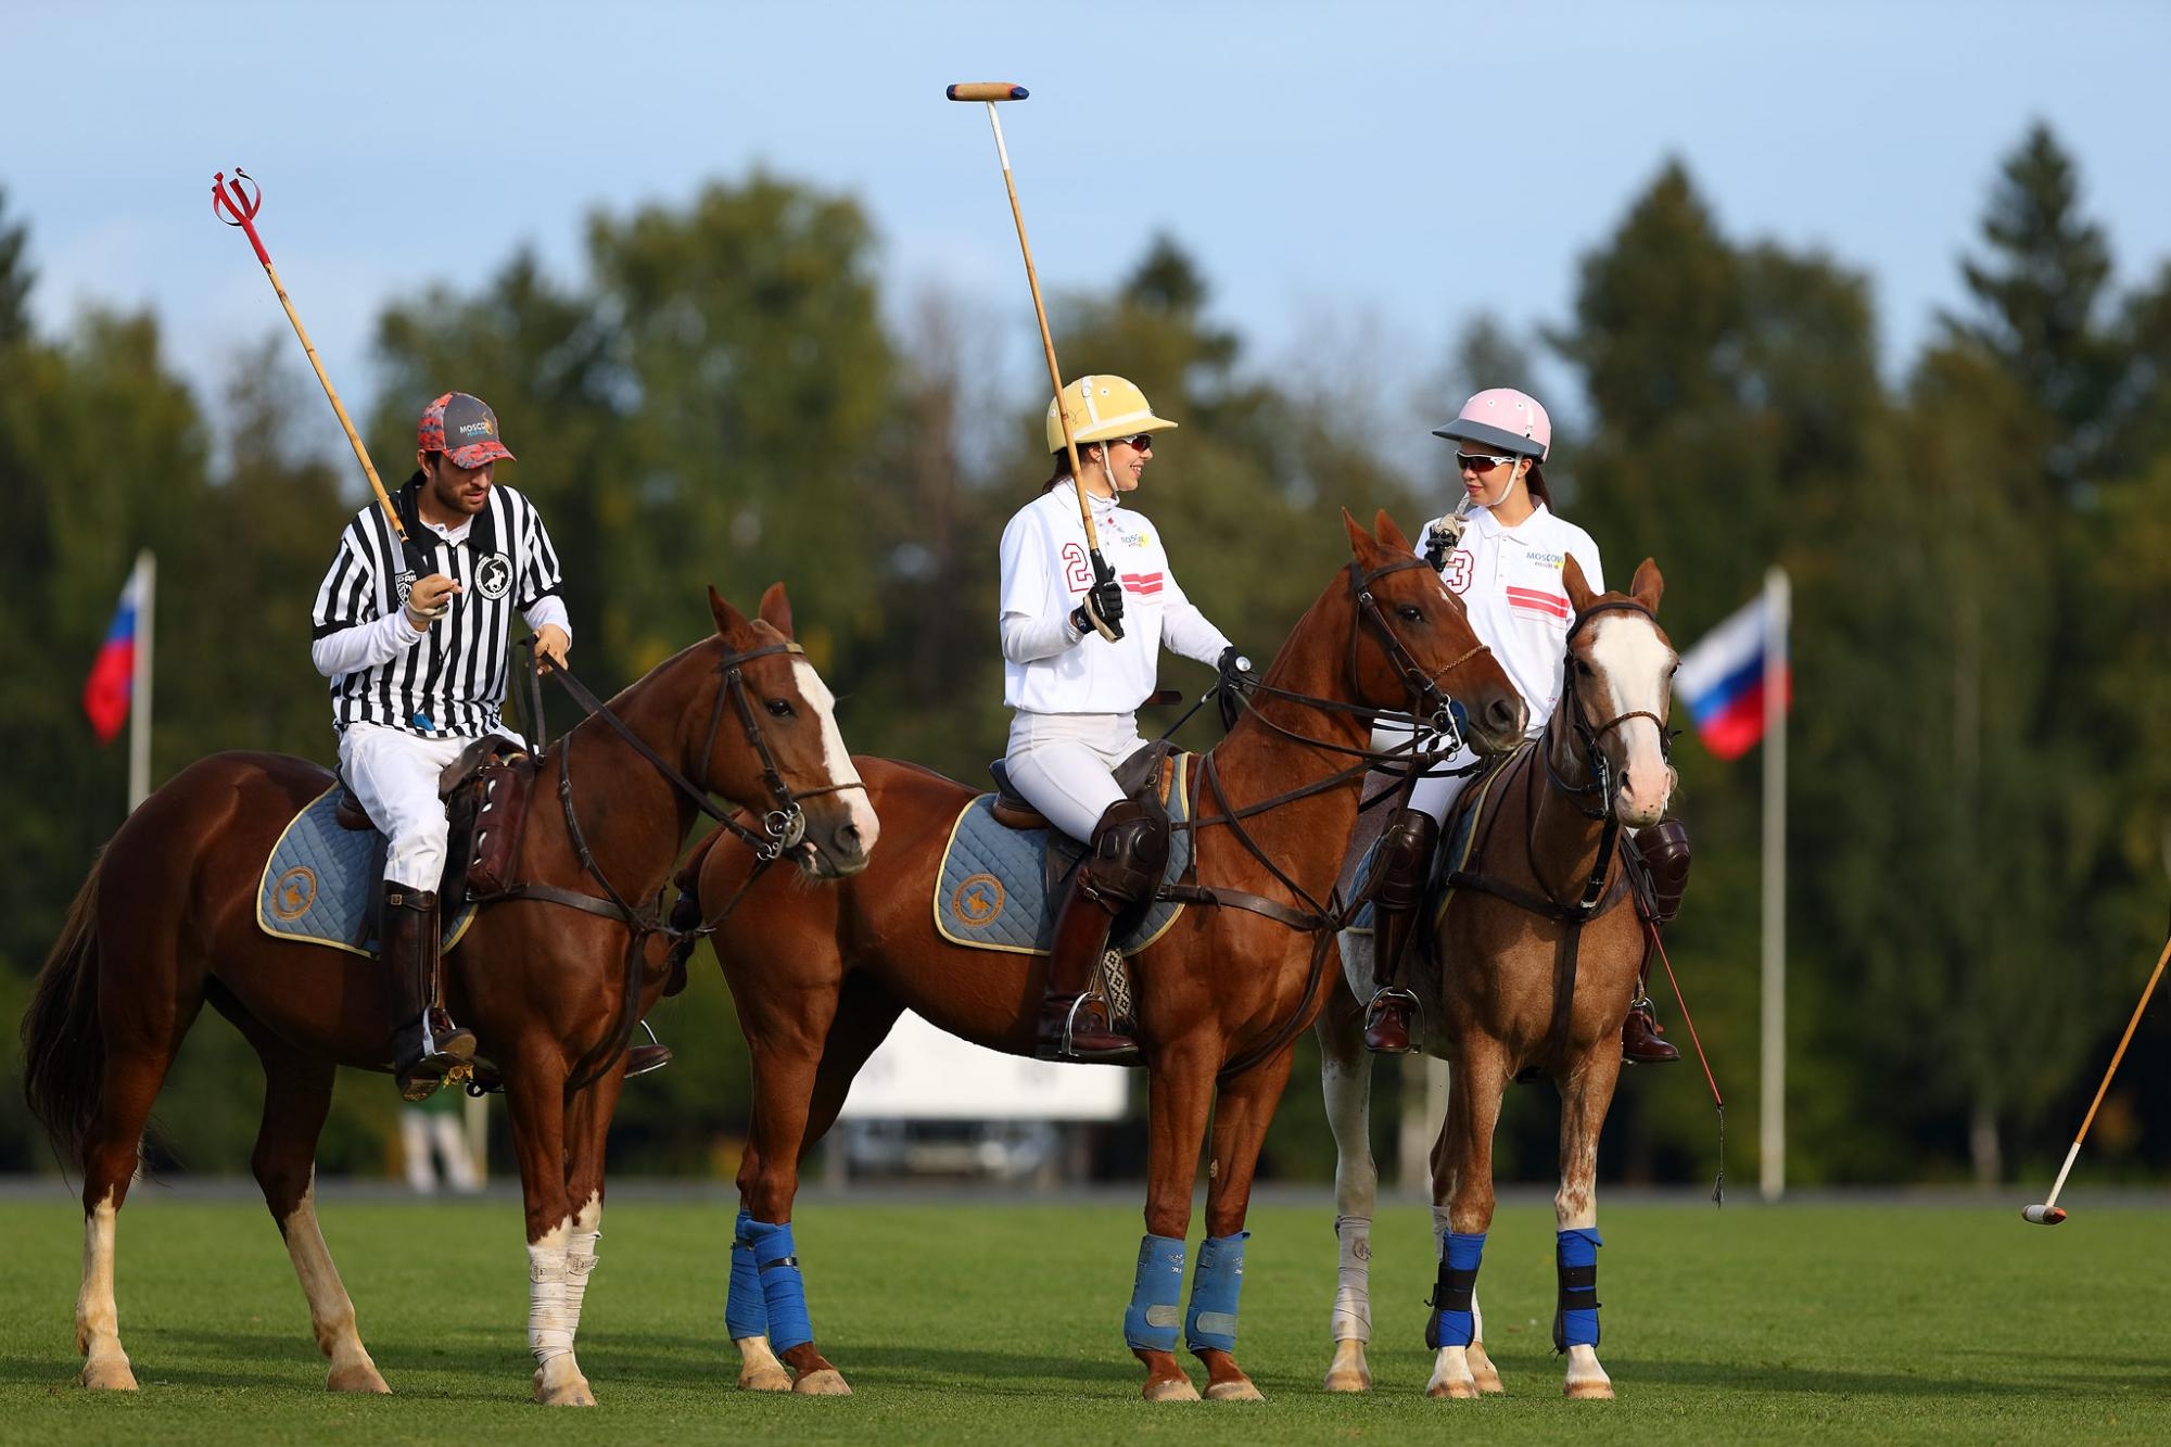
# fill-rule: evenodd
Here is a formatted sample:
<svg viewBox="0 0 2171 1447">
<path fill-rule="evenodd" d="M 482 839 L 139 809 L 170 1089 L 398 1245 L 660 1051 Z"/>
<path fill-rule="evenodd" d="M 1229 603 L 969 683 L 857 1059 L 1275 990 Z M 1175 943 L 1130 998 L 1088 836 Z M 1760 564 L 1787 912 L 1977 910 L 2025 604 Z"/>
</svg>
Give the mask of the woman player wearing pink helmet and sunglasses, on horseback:
<svg viewBox="0 0 2171 1447">
<path fill-rule="evenodd" d="M 1552 419 L 1537 398 L 1513 387 L 1487 387 L 1463 402 L 1455 421 L 1433 428 L 1433 437 L 1457 443 L 1455 463 L 1463 495 L 1457 498 L 1452 513 L 1426 524 L 1426 561 L 1439 569 L 1448 591 L 1463 600 L 1470 626 L 1515 680 L 1531 708 L 1535 737 L 1561 702 L 1561 658 L 1574 621 L 1574 608 L 1561 587 L 1561 567 L 1565 558 L 1574 558 L 1591 591 L 1602 593 L 1607 584 L 1598 543 L 1552 511 L 1544 474 L 1544 463 L 1552 454 Z M 1374 747 L 1394 747 L 1405 739 L 1407 732 L 1381 730 Z M 1396 810 L 1381 836 L 1379 895 L 1396 904 L 1374 904 L 1372 982 L 1379 989 L 1366 1010 L 1366 1045 L 1372 1049 L 1411 1047 L 1415 997 L 1396 989 L 1394 980 L 1422 908 L 1439 823 L 1470 778 L 1457 771 L 1472 763 L 1474 756 L 1463 750 L 1420 778 L 1409 808 Z M 1665 819 L 1639 830 L 1633 847 L 1652 867 L 1661 895 L 1678 904 L 1689 867 L 1689 845 L 1680 823 Z M 1672 917 L 1665 904 L 1667 899 L 1661 899 L 1661 915 Z M 1637 999 L 1622 1026 L 1622 1054 L 1641 1062 L 1678 1060 L 1680 1052 L 1659 1034 L 1650 997 L 1639 982 Z"/>
</svg>

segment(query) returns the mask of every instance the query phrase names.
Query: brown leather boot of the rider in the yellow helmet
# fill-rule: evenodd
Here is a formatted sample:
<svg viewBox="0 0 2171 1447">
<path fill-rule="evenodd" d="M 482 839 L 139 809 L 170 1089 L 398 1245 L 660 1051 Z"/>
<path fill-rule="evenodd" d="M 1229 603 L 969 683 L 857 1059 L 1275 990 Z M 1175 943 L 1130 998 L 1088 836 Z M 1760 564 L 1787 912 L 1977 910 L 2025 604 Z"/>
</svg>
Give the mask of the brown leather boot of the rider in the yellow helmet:
<svg viewBox="0 0 2171 1447">
<path fill-rule="evenodd" d="M 1092 830 L 1092 854 L 1070 873 L 1055 917 L 1046 995 L 1033 1054 L 1042 1060 L 1138 1065 L 1138 1041 L 1116 1030 L 1107 999 L 1088 995 L 1116 917 L 1153 897 L 1168 865 L 1168 826 L 1135 800 L 1109 804 Z"/>
</svg>

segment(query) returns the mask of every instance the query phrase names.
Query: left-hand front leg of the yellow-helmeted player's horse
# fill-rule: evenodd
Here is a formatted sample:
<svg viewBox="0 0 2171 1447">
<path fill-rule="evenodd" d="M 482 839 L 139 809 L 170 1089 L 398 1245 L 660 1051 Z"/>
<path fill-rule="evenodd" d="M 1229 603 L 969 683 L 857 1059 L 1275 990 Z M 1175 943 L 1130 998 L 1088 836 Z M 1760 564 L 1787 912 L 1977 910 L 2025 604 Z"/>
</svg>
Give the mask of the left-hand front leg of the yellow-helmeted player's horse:
<svg viewBox="0 0 2171 1447">
<path fill-rule="evenodd" d="M 1218 1036 L 1192 1036 L 1164 1047 L 1151 1069 L 1146 1236 L 1138 1243 L 1131 1306 L 1122 1312 L 1122 1341 L 1146 1364 L 1146 1401 L 1198 1401 L 1177 1362 L 1177 1328 L 1183 1321 L 1183 1232 L 1192 1225 L 1192 1184 L 1220 1054 Z"/>
</svg>

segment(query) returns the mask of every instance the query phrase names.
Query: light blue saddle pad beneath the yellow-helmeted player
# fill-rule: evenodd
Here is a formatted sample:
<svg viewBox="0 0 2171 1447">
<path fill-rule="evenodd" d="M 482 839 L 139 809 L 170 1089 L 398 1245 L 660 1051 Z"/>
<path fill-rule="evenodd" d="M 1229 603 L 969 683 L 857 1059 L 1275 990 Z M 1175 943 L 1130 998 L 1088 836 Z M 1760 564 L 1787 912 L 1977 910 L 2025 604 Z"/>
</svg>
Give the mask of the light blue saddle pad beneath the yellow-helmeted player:
<svg viewBox="0 0 2171 1447">
<path fill-rule="evenodd" d="M 1170 821 L 1190 819 L 1190 754 L 1175 756 L 1168 787 Z M 1007 949 L 1012 954 L 1046 954 L 1055 936 L 1055 910 L 1046 889 L 1049 850 L 1062 850 L 1077 860 L 1086 847 L 1055 830 L 1014 830 L 994 821 L 994 795 L 983 793 L 957 813 L 942 871 L 936 876 L 936 932 L 953 945 L 973 949 Z M 1175 880 L 1192 865 L 1192 832 L 1177 830 L 1168 839 L 1168 869 L 1161 880 Z M 1138 926 L 1112 939 L 1122 954 L 1138 954 L 1157 941 L 1183 906 L 1161 899 Z"/>
</svg>

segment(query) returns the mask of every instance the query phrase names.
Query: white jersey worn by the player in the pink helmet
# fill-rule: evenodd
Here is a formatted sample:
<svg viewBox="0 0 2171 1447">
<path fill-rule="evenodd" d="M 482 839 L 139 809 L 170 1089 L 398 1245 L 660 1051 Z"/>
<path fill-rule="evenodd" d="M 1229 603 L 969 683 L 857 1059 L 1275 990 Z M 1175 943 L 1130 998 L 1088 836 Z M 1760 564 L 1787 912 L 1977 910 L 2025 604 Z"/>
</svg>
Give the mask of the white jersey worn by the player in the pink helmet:
<svg viewBox="0 0 2171 1447">
<path fill-rule="evenodd" d="M 1522 702 L 1531 706 L 1533 730 L 1544 728 L 1561 702 L 1561 656 L 1567 652 L 1567 626 L 1576 617 L 1561 582 L 1561 567 L 1570 556 L 1583 567 L 1591 591 L 1602 593 L 1607 578 L 1598 543 L 1541 502 L 1513 528 L 1502 526 L 1489 508 L 1474 508 L 1463 541 L 1439 567 L 1439 580 L 1470 611 L 1470 628 L 1491 645 Z"/>
</svg>

